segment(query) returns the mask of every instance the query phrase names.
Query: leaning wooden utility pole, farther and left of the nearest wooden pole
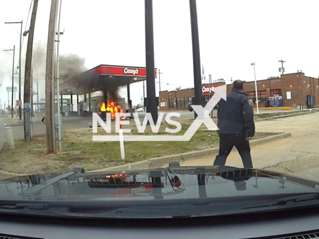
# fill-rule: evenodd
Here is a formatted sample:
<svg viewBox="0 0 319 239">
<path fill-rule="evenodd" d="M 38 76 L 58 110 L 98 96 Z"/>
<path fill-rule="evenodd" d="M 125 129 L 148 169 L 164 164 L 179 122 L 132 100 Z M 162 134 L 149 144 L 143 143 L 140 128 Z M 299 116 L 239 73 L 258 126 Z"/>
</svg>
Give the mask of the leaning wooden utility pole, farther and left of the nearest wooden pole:
<svg viewBox="0 0 319 239">
<path fill-rule="evenodd" d="M 36 11 L 38 8 L 38 0 L 33 1 L 33 9 L 30 20 L 28 43 L 26 46 L 26 56 L 25 56 L 25 70 L 24 70 L 24 96 L 23 103 L 30 103 L 30 78 L 31 78 L 31 62 L 32 62 L 32 48 L 33 48 L 33 35 Z"/>
</svg>

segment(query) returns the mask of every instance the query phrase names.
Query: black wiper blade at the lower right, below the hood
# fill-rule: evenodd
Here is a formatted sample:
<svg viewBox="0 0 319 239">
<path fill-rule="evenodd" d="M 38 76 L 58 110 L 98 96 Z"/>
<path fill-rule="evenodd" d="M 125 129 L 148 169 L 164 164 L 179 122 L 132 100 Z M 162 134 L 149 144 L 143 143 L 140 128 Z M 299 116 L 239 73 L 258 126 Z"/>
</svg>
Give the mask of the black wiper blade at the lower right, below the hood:
<svg viewBox="0 0 319 239">
<path fill-rule="evenodd" d="M 254 207 L 248 207 L 243 209 L 252 209 L 252 208 L 262 208 L 262 207 L 280 207 L 285 208 L 291 207 L 294 205 L 294 207 L 297 206 L 310 206 L 310 205 L 317 205 L 319 204 L 319 195 L 318 193 L 310 193 L 310 194 L 304 194 L 300 196 L 295 197 L 287 197 L 287 198 L 281 198 L 279 199 L 275 204 L 268 204 L 268 205 L 262 205 L 262 206 L 254 206 Z M 296 205 L 298 203 L 298 205 Z"/>
</svg>

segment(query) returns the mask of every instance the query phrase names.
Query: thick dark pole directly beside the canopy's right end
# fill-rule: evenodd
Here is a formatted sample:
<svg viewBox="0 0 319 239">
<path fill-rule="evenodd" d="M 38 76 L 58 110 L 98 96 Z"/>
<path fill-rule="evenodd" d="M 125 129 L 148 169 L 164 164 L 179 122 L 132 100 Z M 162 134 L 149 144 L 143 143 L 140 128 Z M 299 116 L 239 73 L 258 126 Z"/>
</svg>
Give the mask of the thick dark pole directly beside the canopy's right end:
<svg viewBox="0 0 319 239">
<path fill-rule="evenodd" d="M 154 123 L 158 121 L 155 87 L 155 60 L 154 60 L 154 29 L 153 29 L 153 0 L 145 0 L 145 49 L 146 49 L 146 90 L 147 108 Z M 144 104 L 145 107 L 145 104 Z M 150 121 L 148 121 L 150 123 Z"/>
</svg>

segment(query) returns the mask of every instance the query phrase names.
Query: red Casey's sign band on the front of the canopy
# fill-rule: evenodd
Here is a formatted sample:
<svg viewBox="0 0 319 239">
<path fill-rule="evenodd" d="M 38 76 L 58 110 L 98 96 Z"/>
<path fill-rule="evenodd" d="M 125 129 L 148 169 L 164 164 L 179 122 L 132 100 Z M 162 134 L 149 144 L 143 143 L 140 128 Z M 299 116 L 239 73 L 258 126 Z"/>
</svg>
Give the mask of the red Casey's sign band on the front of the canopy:
<svg viewBox="0 0 319 239">
<path fill-rule="evenodd" d="M 146 68 L 138 67 L 100 66 L 96 68 L 96 72 L 99 75 L 146 77 Z M 155 77 L 156 73 L 155 70 Z"/>
</svg>

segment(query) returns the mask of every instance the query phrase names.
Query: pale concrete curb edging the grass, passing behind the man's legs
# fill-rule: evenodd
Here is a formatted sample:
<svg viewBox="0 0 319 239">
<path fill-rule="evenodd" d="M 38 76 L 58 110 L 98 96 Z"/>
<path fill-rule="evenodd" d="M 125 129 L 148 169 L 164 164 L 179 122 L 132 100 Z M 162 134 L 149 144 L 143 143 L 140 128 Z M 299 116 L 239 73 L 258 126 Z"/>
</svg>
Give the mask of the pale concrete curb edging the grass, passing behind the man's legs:
<svg viewBox="0 0 319 239">
<path fill-rule="evenodd" d="M 250 145 L 257 145 L 261 143 L 266 143 L 272 140 L 276 139 L 281 139 L 281 138 L 286 138 L 291 136 L 291 133 L 280 133 L 277 135 L 273 135 L 270 137 L 266 138 L 261 138 L 261 139 L 256 139 L 252 140 L 250 142 Z M 187 153 L 182 153 L 182 154 L 174 154 L 174 155 L 168 155 L 168 156 L 162 156 L 158 158 L 151 158 L 135 163 L 129 163 L 129 164 L 124 164 L 120 166 L 115 166 L 115 167 L 110 167 L 110 168 L 104 168 L 104 169 L 98 169 L 98 170 L 92 170 L 89 172 L 102 172 L 102 171 L 126 171 L 126 170 L 134 170 L 134 169 L 141 169 L 141 168 L 151 168 L 153 166 L 155 167 L 161 167 L 163 164 L 167 164 L 169 162 L 182 162 L 190 158 L 196 158 L 196 157 L 201 157 L 201 156 L 206 156 L 210 154 L 217 154 L 219 151 L 219 147 L 217 148 L 211 148 L 211 149 L 204 149 L 204 150 L 199 150 L 199 151 L 193 151 L 193 152 L 187 152 Z"/>
</svg>

